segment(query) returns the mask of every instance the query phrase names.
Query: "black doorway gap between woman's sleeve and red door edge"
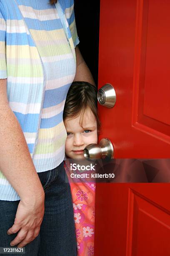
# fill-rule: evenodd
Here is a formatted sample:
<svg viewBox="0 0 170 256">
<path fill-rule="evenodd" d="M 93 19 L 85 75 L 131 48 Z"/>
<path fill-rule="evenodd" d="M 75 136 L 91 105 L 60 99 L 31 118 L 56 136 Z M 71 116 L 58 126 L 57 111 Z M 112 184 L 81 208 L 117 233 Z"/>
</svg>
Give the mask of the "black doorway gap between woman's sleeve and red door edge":
<svg viewBox="0 0 170 256">
<path fill-rule="evenodd" d="M 100 0 L 75 0 L 75 21 L 80 39 L 79 49 L 98 83 Z"/>
</svg>

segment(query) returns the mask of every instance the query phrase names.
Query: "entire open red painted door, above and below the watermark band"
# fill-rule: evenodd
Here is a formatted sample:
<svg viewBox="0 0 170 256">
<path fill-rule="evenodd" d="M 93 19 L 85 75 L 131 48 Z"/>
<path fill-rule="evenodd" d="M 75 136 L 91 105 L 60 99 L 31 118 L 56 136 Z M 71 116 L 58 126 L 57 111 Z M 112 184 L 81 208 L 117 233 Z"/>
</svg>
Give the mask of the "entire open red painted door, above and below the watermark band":
<svg viewBox="0 0 170 256">
<path fill-rule="evenodd" d="M 100 0 L 99 88 L 112 84 L 117 100 L 99 106 L 99 140 L 117 159 L 170 158 L 169 14 L 169 0 Z M 165 183 L 97 184 L 95 255 L 170 255 L 169 194 Z"/>
</svg>

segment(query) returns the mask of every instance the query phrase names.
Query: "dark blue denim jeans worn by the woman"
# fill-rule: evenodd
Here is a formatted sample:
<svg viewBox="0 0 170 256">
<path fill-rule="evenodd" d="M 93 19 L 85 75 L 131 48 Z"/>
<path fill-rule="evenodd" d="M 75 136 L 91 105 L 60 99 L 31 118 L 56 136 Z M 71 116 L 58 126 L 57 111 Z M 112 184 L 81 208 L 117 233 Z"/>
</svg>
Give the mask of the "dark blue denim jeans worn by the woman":
<svg viewBox="0 0 170 256">
<path fill-rule="evenodd" d="M 72 197 L 70 184 L 65 182 L 67 176 L 63 162 L 55 169 L 38 173 L 38 176 L 45 191 L 45 214 L 39 235 L 25 246 L 24 255 L 76 256 Z M 14 223 L 19 202 L 0 200 L 0 247 L 10 247 L 17 235 L 7 235 L 7 230 Z"/>
</svg>

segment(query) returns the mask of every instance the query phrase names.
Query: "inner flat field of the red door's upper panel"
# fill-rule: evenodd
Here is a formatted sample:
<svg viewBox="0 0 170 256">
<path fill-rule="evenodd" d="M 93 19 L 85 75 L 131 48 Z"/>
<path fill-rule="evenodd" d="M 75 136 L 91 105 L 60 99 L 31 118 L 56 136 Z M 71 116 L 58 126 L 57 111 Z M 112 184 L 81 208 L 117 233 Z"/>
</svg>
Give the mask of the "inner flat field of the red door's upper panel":
<svg viewBox="0 0 170 256">
<path fill-rule="evenodd" d="M 145 28 L 147 37 L 144 114 L 170 125 L 170 118 L 167 119 L 167 116 L 170 117 L 169 1 L 145 0 L 144 2 L 146 7 L 143 13 L 148 13 L 148 15 L 144 14 L 148 16 L 148 27 Z"/>
</svg>

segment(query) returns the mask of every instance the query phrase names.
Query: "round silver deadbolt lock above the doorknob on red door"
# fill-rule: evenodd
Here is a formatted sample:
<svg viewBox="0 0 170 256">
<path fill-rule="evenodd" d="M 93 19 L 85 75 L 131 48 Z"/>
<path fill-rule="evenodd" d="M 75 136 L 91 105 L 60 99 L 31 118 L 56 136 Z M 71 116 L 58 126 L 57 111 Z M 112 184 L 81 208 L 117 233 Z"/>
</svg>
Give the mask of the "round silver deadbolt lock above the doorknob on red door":
<svg viewBox="0 0 170 256">
<path fill-rule="evenodd" d="M 97 92 L 97 100 L 100 105 L 113 108 L 116 103 L 116 92 L 112 84 L 105 84 Z"/>
</svg>

